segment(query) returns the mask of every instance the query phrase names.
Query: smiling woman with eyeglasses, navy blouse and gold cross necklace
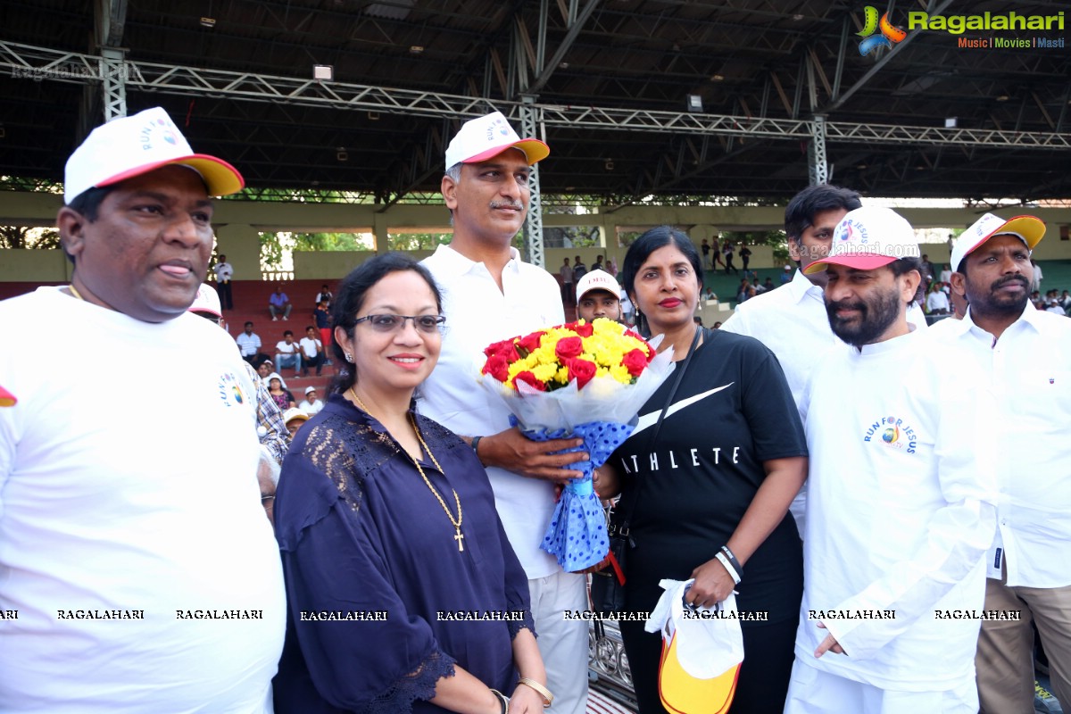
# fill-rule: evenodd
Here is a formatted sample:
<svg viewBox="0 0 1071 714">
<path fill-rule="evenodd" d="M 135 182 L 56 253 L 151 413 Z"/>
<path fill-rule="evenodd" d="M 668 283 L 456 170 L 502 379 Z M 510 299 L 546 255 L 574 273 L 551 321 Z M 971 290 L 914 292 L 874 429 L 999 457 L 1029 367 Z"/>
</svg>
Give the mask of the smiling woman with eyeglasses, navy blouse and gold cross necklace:
<svg viewBox="0 0 1071 714">
<path fill-rule="evenodd" d="M 534 714 L 552 698 L 487 475 L 413 409 L 440 313 L 432 276 L 398 254 L 338 286 L 333 349 L 346 368 L 295 437 L 275 499 L 280 714 Z"/>
</svg>

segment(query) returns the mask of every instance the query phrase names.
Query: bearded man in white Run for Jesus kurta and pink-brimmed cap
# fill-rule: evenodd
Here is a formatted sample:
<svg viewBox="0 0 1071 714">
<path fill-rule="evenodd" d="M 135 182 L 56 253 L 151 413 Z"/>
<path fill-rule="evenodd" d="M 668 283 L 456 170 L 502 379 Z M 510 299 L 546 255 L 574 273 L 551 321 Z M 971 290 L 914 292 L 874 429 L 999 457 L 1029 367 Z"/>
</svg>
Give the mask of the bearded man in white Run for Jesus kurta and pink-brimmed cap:
<svg viewBox="0 0 1071 714">
<path fill-rule="evenodd" d="M 977 381 L 907 321 L 919 245 L 900 215 L 848 212 L 805 269 L 821 270 L 850 347 L 801 400 L 810 488 L 785 712 L 976 712 L 978 620 L 957 613 L 982 606 L 995 517 Z"/>
</svg>

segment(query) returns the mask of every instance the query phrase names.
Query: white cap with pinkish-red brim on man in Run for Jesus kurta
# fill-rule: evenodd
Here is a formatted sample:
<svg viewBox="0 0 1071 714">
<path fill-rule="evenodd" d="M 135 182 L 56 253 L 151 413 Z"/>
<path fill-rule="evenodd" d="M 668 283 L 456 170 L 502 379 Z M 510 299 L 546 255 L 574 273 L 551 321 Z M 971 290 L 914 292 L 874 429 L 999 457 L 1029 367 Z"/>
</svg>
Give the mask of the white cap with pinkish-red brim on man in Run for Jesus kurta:
<svg viewBox="0 0 1071 714">
<path fill-rule="evenodd" d="M 918 258 L 919 239 L 904 216 L 892 209 L 868 207 L 848 211 L 833 229 L 829 255 L 803 269 L 819 273 L 826 265 L 875 270 L 901 258 Z"/>
</svg>

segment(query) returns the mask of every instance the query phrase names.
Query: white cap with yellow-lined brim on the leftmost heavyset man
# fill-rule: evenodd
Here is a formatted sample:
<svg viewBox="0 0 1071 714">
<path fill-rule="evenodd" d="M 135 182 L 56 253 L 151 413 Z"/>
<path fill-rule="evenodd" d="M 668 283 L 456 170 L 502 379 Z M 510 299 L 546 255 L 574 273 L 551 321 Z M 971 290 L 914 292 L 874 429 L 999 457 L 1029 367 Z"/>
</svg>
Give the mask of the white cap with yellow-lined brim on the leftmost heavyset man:
<svg viewBox="0 0 1071 714">
<path fill-rule="evenodd" d="M 63 202 L 71 203 L 89 188 L 110 186 L 168 164 L 197 171 L 211 196 L 235 194 L 245 185 L 242 174 L 227 162 L 195 154 L 167 112 L 153 107 L 114 119 L 86 137 L 67 159 Z"/>
</svg>

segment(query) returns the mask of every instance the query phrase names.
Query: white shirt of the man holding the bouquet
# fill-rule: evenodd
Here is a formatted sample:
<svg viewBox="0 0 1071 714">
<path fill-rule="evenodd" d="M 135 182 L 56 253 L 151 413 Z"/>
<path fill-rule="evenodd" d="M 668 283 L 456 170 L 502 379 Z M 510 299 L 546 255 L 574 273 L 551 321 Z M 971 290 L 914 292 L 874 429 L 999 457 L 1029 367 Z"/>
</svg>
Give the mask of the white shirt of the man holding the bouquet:
<svg viewBox="0 0 1071 714">
<path fill-rule="evenodd" d="M 420 412 L 455 434 L 474 437 L 510 428 L 510 412 L 477 379 L 483 348 L 565 321 L 558 282 L 545 270 L 521 260 L 510 248 L 502 289 L 482 262 L 440 245 L 422 264 L 442 292 L 447 330 L 439 363 L 421 385 Z M 504 469 L 488 468 L 495 505 L 529 579 L 556 573 L 557 561 L 540 549 L 554 514 L 554 485 Z M 464 504 L 463 504 L 464 505 Z"/>
</svg>

